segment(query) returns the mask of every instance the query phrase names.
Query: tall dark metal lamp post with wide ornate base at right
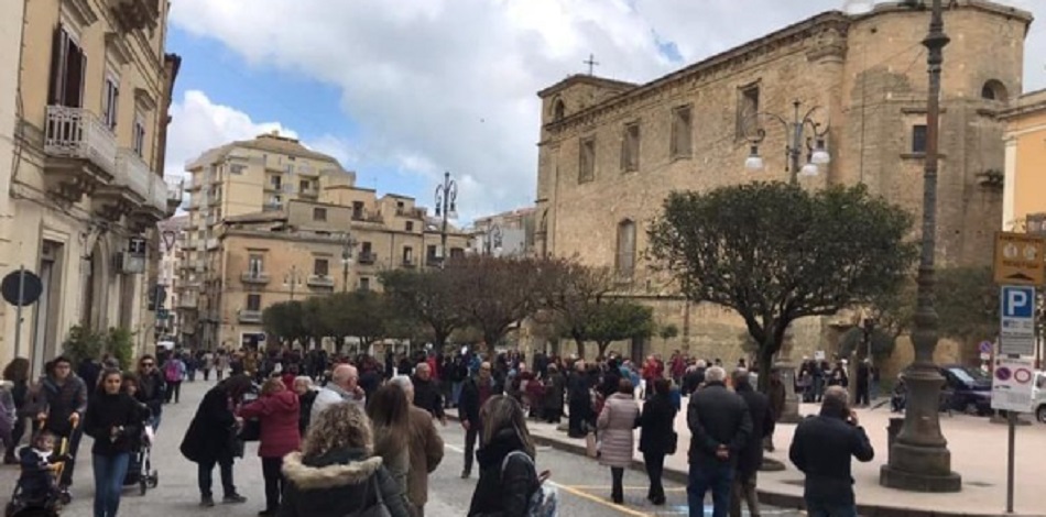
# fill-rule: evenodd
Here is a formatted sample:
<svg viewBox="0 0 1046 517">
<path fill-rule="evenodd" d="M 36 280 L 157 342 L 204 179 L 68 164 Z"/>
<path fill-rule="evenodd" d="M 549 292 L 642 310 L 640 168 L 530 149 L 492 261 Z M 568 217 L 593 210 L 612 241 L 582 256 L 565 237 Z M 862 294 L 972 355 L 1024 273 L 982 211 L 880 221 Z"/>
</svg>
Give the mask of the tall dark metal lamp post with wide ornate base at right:
<svg viewBox="0 0 1046 517">
<path fill-rule="evenodd" d="M 915 2 L 909 2 L 915 3 Z M 924 8 L 923 2 L 914 7 Z M 951 471 L 951 452 L 940 432 L 940 388 L 944 377 L 934 363 L 934 349 L 939 339 L 937 310 L 934 308 L 934 253 L 937 248 L 937 162 L 940 130 L 940 72 L 944 48 L 950 38 L 945 34 L 941 0 L 933 0 L 929 33 L 923 40 L 927 52 L 929 91 L 926 99 L 926 160 L 923 172 L 923 229 L 918 301 L 912 343 L 915 361 L 904 372 L 908 397 L 904 426 L 890 451 L 890 462 L 880 472 L 880 484 L 916 492 L 959 492 L 962 479 Z"/>
</svg>

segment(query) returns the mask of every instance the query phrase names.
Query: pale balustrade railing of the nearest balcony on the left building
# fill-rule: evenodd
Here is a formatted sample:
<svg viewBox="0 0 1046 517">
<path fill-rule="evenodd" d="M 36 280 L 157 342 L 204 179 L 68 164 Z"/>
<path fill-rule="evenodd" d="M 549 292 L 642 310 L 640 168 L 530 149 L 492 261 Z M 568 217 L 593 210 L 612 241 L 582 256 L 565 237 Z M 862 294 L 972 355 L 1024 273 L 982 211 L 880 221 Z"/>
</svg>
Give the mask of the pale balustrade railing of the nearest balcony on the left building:
<svg viewBox="0 0 1046 517">
<path fill-rule="evenodd" d="M 110 175 L 116 173 L 117 139 L 90 111 L 48 106 L 44 135 L 44 153 L 88 160 Z"/>
</svg>

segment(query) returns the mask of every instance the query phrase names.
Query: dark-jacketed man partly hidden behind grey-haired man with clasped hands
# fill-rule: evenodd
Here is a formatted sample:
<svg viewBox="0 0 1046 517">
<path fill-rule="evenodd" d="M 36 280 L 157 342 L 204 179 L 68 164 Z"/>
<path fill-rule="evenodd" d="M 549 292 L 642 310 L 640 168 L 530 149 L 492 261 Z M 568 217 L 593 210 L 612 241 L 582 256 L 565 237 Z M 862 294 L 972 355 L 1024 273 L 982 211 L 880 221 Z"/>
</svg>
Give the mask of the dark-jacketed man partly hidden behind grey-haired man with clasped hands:
<svg viewBox="0 0 1046 517">
<path fill-rule="evenodd" d="M 774 413 L 770 397 L 756 392 L 745 369 L 733 371 L 733 388 L 744 399 L 752 417 L 752 435 L 738 457 L 733 477 L 733 496 L 730 498 L 730 517 L 741 516 L 741 498 L 748 502 L 749 514 L 759 517 L 759 495 L 755 493 L 755 474 L 763 463 L 763 440 L 774 433 Z"/>
</svg>

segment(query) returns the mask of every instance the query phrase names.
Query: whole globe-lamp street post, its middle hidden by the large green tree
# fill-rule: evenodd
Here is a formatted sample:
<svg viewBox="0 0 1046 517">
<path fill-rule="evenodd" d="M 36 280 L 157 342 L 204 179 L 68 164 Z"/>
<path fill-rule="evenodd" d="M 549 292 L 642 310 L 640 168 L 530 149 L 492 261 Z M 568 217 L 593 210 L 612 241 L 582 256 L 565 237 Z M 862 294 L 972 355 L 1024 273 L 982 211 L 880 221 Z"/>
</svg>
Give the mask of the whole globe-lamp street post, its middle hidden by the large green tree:
<svg viewBox="0 0 1046 517">
<path fill-rule="evenodd" d="M 822 124 L 814 120 L 814 114 L 820 109 L 819 107 L 815 106 L 805 114 L 802 111 L 803 103 L 798 100 L 793 102 L 792 107 L 794 113 L 791 122 L 784 117 L 770 112 L 759 112 L 752 116 L 755 122 L 755 134 L 749 138 L 752 147 L 751 154 L 744 161 L 744 168 L 749 170 L 763 169 L 765 164 L 759 153 L 759 146 L 766 140 L 766 130 L 759 127 L 759 119 L 762 117 L 775 120 L 781 122 L 785 129 L 785 134 L 788 135 L 788 142 L 785 144 L 785 156 L 787 157 L 785 172 L 791 174 L 792 185 L 798 185 L 799 176 L 817 176 L 821 165 L 831 163 L 831 155 L 828 153 L 826 145 L 829 127 L 824 124 L 824 129 L 821 129 Z M 806 134 L 807 130 L 810 131 L 809 136 Z M 807 160 L 805 165 L 800 165 L 804 148 L 806 150 Z M 797 424 L 802 420 L 799 416 L 799 396 L 795 393 L 795 364 L 792 362 L 794 343 L 795 333 L 789 327 L 785 331 L 781 343 L 781 352 L 777 353 L 774 362 L 774 371 L 780 373 L 781 382 L 785 387 L 785 404 L 777 421 L 785 424 Z"/>
</svg>

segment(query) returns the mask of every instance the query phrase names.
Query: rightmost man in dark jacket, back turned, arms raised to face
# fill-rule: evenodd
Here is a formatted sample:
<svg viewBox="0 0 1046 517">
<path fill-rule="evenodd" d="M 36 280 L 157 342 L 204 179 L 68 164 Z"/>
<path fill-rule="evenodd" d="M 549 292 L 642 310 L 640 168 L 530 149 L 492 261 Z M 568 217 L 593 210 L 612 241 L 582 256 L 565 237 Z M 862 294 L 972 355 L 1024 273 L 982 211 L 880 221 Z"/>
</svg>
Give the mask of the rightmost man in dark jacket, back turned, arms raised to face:
<svg viewBox="0 0 1046 517">
<path fill-rule="evenodd" d="M 792 463 L 806 474 L 803 497 L 810 517 L 857 515 L 850 457 L 869 462 L 874 455 L 847 389 L 825 391 L 820 415 L 799 422 L 788 451 Z"/>
</svg>

